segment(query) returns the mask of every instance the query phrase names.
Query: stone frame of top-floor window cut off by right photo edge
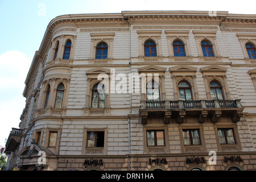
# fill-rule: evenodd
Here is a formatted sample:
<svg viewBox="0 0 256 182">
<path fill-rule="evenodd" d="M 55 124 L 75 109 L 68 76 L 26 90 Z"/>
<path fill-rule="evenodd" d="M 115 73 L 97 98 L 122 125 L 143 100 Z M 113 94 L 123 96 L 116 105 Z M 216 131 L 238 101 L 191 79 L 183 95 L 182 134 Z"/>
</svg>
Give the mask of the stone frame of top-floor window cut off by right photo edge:
<svg viewBox="0 0 256 182">
<path fill-rule="evenodd" d="M 245 45 L 247 43 L 252 44 L 256 48 L 256 34 L 255 33 L 237 33 L 238 40 L 241 44 L 243 55 L 245 56 L 246 63 L 256 63 L 256 59 L 250 59 Z"/>
</svg>

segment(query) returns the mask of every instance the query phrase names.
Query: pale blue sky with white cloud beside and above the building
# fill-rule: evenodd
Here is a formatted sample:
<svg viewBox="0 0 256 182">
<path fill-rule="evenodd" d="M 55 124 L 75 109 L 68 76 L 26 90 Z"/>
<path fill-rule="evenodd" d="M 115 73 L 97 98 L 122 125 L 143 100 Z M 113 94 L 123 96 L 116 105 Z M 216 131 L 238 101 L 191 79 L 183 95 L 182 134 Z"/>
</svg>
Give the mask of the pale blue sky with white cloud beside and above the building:
<svg viewBox="0 0 256 182">
<path fill-rule="evenodd" d="M 24 82 L 46 28 L 56 16 L 144 10 L 256 14 L 255 5 L 255 0 L 246 3 L 234 0 L 0 0 L 0 145 L 5 146 L 12 127 L 19 128 L 26 104 L 22 96 Z"/>
</svg>

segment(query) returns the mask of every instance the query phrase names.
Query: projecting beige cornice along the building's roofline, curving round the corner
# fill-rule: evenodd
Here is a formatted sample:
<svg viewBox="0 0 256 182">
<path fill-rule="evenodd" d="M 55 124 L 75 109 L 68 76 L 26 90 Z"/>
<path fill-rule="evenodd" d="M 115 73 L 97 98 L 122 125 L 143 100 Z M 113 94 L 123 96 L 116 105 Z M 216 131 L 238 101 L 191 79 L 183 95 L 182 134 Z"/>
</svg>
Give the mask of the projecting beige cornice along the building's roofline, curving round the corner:
<svg viewBox="0 0 256 182">
<path fill-rule="evenodd" d="M 216 11 L 216 16 L 210 16 L 209 11 L 122 11 L 122 13 L 108 14 L 73 14 L 61 15 L 49 22 L 39 50 L 35 52 L 30 70 L 25 81 L 23 96 L 27 97 L 28 85 L 36 66 L 46 53 L 51 43 L 53 32 L 57 28 L 73 27 L 128 27 L 129 24 L 207 24 L 229 26 L 238 24 L 256 26 L 256 15 L 228 14 L 228 11 Z M 74 30 L 75 31 L 75 30 Z"/>
</svg>

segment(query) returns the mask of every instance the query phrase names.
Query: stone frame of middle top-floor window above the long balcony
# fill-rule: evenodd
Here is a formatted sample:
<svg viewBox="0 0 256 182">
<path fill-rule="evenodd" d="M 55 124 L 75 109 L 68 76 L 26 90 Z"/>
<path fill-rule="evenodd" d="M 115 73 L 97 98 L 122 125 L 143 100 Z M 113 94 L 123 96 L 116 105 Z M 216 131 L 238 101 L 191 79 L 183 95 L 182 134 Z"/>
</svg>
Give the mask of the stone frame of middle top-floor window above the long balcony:
<svg viewBox="0 0 256 182">
<path fill-rule="evenodd" d="M 191 61 L 192 60 L 192 54 L 191 54 L 191 48 L 189 44 L 189 30 L 184 31 L 172 31 L 172 30 L 166 30 L 164 31 L 167 36 L 167 43 L 168 43 L 168 51 L 169 51 L 169 60 L 171 62 L 173 61 Z M 179 40 L 184 44 L 185 49 L 185 56 L 184 57 L 175 57 L 174 56 L 174 48 L 172 43 L 175 40 Z"/>
</svg>

